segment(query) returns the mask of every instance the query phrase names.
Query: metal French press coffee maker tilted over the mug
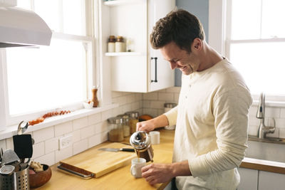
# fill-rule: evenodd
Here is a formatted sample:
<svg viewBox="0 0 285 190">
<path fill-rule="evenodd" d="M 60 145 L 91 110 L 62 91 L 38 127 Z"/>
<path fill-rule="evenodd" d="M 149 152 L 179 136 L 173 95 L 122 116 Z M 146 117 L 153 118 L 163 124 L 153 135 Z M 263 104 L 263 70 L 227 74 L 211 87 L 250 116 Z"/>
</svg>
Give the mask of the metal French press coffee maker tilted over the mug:
<svg viewBox="0 0 285 190">
<path fill-rule="evenodd" d="M 150 137 L 146 132 L 134 132 L 130 136 L 130 144 L 135 148 L 138 157 L 146 159 L 147 162 L 153 162 L 153 149 L 150 143 Z"/>
</svg>

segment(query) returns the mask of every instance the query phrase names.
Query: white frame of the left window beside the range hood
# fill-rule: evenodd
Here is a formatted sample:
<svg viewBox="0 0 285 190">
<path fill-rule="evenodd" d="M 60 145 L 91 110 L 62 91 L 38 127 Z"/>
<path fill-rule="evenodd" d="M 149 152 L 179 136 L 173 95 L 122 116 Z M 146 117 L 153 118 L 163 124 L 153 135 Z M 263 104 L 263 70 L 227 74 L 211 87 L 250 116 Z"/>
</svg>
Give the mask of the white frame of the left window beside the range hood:
<svg viewBox="0 0 285 190">
<path fill-rule="evenodd" d="M 32 5 L 33 6 L 33 5 Z M 52 38 L 65 39 L 71 41 L 81 41 L 86 43 L 86 80 L 87 80 L 87 96 L 91 97 L 91 88 L 93 86 L 100 86 L 100 65 L 98 64 L 98 34 L 94 30 L 98 26 L 98 22 L 94 22 L 98 19 L 98 3 L 93 3 L 93 1 L 85 1 L 85 14 L 86 14 L 86 36 L 77 36 L 68 33 L 58 33 L 53 31 Z M 96 26 L 95 26 L 96 25 Z M 98 28 L 98 27 L 97 27 Z M 19 123 L 21 120 L 31 120 L 46 112 L 51 112 L 53 110 L 41 110 L 39 112 L 28 113 L 25 115 L 16 115 L 11 117 L 9 115 L 9 97 L 8 97 L 8 83 L 7 83 L 7 68 L 6 68 L 6 49 L 0 49 L 0 130 L 2 127 L 7 127 Z M 103 97 L 98 90 L 98 99 Z M 66 107 L 60 107 L 63 110 L 79 110 L 83 108 L 82 102 L 75 102 L 72 105 L 66 105 Z"/>
</svg>

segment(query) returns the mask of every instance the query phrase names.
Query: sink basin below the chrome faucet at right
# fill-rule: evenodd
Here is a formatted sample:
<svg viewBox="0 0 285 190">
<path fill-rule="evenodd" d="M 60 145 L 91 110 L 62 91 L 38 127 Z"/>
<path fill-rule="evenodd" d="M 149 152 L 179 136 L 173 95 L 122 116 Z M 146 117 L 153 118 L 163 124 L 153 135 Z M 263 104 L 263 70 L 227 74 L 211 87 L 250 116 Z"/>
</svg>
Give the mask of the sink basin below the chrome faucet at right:
<svg viewBox="0 0 285 190">
<path fill-rule="evenodd" d="M 254 159 L 265 159 L 274 162 L 285 162 L 284 139 L 254 139 L 249 137 L 249 148 L 246 156 Z"/>
</svg>

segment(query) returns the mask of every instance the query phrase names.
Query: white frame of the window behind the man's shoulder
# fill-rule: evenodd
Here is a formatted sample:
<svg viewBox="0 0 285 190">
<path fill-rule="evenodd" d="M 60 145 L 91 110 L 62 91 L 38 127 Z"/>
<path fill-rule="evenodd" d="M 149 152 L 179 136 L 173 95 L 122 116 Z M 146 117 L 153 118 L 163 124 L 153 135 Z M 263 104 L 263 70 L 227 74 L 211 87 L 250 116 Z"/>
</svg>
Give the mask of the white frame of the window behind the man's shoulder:
<svg viewBox="0 0 285 190">
<path fill-rule="evenodd" d="M 266 42 L 284 42 L 285 38 L 266 38 L 249 40 L 230 40 L 231 35 L 231 11 L 232 0 L 211 0 L 209 1 L 209 45 L 218 53 L 229 57 L 230 43 L 266 43 Z M 252 94 L 254 104 L 259 101 L 259 95 Z M 285 107 L 285 95 L 266 95 L 266 102 L 275 107 Z"/>
</svg>

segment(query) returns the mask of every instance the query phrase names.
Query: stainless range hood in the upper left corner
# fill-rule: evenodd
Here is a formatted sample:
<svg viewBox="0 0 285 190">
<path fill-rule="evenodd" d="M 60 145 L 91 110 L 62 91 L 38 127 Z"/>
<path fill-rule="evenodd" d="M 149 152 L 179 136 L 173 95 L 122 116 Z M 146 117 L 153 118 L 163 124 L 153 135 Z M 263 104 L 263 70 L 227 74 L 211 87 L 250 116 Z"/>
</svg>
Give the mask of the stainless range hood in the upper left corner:
<svg viewBox="0 0 285 190">
<path fill-rule="evenodd" d="M 0 48 L 49 46 L 51 29 L 33 11 L 0 7 Z"/>
</svg>

